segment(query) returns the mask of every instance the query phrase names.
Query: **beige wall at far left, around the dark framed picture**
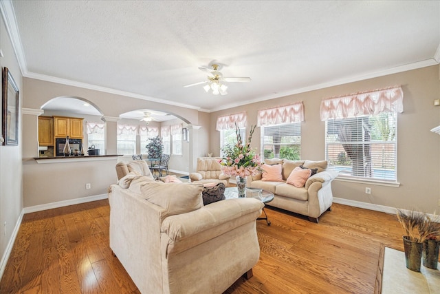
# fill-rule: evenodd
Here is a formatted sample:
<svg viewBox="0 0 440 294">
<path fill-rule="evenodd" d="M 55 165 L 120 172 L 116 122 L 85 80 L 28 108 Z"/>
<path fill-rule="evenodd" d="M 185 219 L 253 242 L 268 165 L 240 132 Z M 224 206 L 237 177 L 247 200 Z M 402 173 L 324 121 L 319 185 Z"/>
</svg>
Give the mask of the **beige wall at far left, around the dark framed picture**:
<svg viewBox="0 0 440 294">
<path fill-rule="evenodd" d="M 23 101 L 22 75 L 19 63 L 12 49 L 12 43 L 5 29 L 3 17 L 0 21 L 0 49 L 3 52 L 3 58 L 0 58 L 1 69 L 8 67 L 14 81 L 20 90 L 20 103 Z M 0 106 L 1 107 L 1 106 Z M 23 124 L 21 112 L 19 112 L 19 126 Z M 23 192 L 22 192 L 22 167 L 21 167 L 21 147 L 23 146 L 23 138 L 21 129 L 19 130 L 18 146 L 1 146 L 0 144 L 0 254 L 3 266 L 3 258 L 8 243 L 14 233 L 14 227 L 19 221 L 21 210 L 23 209 Z M 4 226 L 4 224 L 6 225 Z"/>
</svg>

